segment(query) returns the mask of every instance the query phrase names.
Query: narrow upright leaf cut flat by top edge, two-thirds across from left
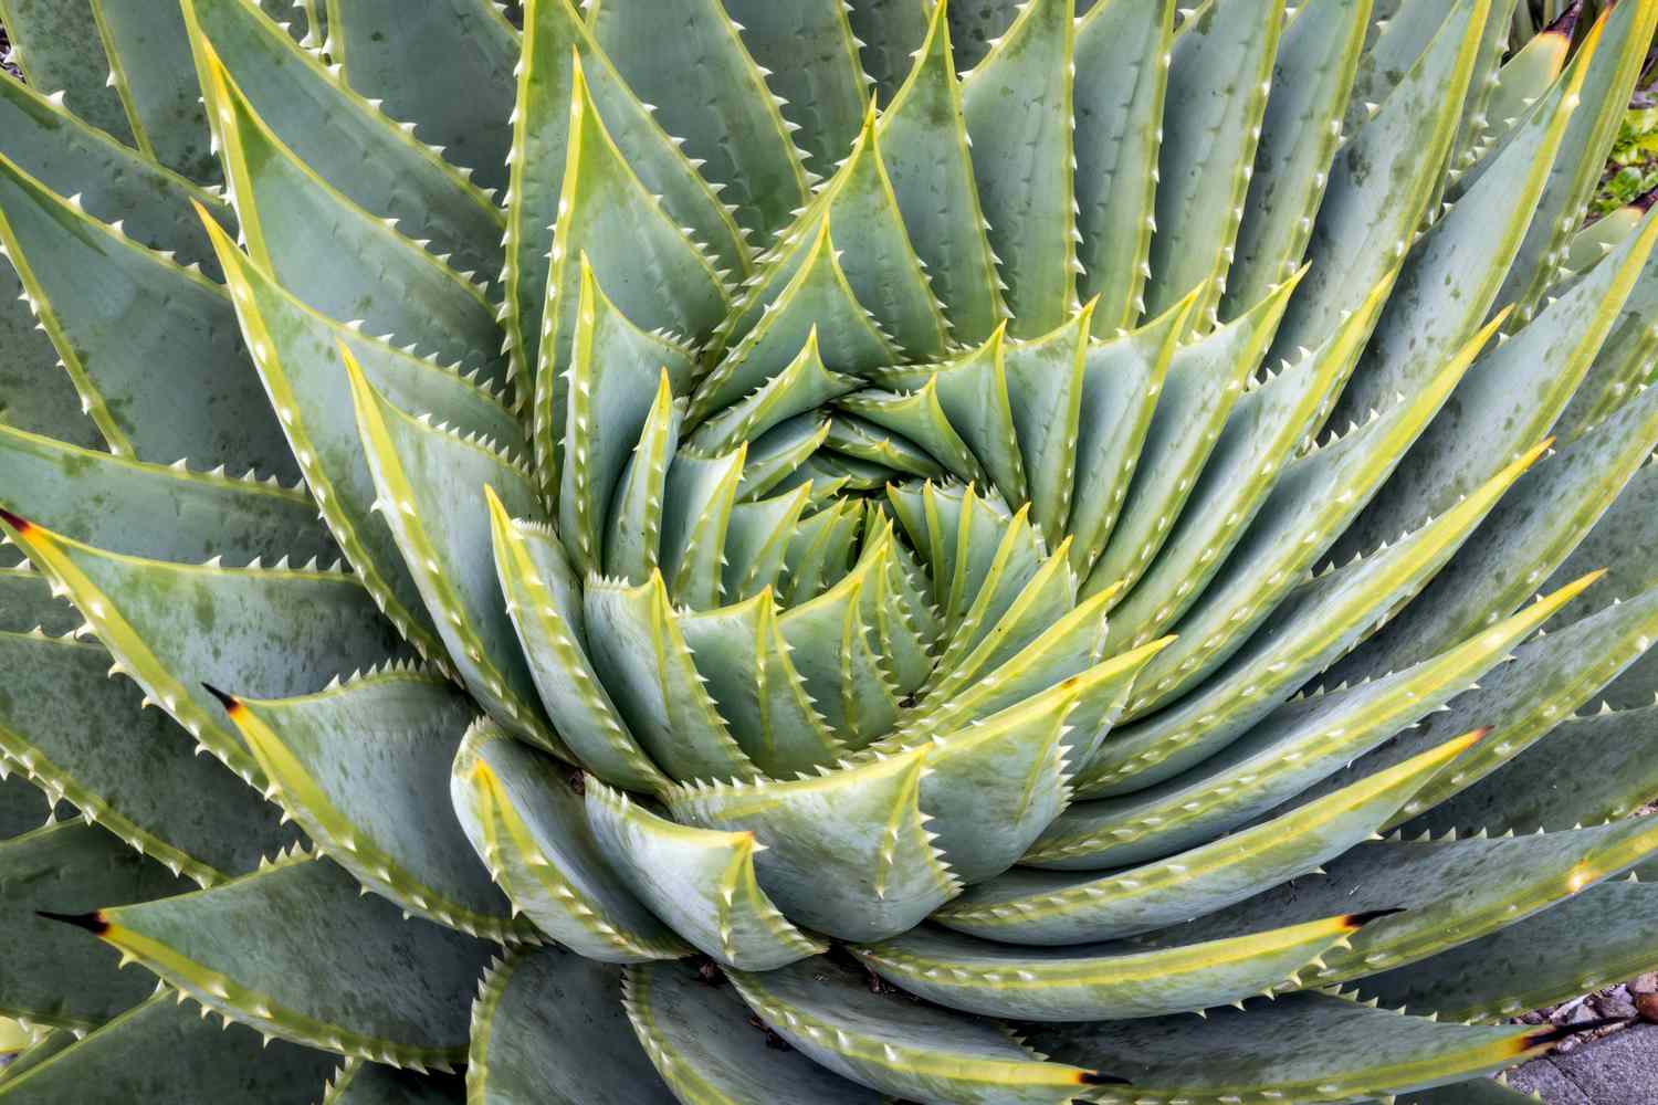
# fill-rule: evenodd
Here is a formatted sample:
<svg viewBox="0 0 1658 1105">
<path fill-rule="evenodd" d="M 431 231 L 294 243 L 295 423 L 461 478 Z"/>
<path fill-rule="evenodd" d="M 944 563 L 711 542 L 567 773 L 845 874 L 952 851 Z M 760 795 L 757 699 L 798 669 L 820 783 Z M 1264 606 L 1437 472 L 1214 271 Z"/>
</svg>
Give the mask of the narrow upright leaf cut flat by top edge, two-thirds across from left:
<svg viewBox="0 0 1658 1105">
<path fill-rule="evenodd" d="M 1132 326 L 1146 313 L 1174 10 L 1171 0 L 1111 0 L 1076 28 L 1076 283 L 1083 297 L 1099 300 L 1096 335 Z"/>
</svg>

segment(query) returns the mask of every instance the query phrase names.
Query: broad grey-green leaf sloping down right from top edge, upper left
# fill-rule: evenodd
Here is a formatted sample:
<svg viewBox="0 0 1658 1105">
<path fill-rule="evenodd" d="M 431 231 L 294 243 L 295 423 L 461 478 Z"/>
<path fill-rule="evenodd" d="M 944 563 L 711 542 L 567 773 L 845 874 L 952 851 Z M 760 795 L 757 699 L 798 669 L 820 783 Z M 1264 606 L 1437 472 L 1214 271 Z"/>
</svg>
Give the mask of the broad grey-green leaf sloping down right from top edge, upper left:
<svg viewBox="0 0 1658 1105">
<path fill-rule="evenodd" d="M 454 268 L 494 275 L 501 265 L 501 212 L 486 192 L 468 182 L 466 171 L 449 166 L 426 142 L 347 88 L 257 5 L 242 0 L 181 3 L 204 93 L 212 88 L 211 53 L 247 98 L 249 111 L 312 174 L 376 219 L 395 219 L 408 239 L 429 239 L 436 253 L 451 255 Z M 322 40 L 312 45 L 320 46 Z M 207 121 L 214 124 L 211 114 Z M 247 195 L 235 199 L 247 202 Z"/>
</svg>

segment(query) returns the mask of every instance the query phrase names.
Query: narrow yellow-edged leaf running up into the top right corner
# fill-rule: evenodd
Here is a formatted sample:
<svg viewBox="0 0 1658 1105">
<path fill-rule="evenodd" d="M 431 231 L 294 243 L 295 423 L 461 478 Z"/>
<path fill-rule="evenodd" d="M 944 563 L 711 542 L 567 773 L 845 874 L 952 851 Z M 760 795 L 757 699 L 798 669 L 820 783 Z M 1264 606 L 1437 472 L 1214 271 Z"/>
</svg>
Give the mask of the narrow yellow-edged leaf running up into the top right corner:
<svg viewBox="0 0 1658 1105">
<path fill-rule="evenodd" d="M 1549 182 L 1537 197 L 1525 242 L 1497 293 L 1499 303 L 1519 305 L 1515 323 L 1530 320 L 1559 275 L 1572 232 L 1600 182 L 1600 162 L 1612 152 L 1630 93 L 1646 65 L 1655 28 L 1658 12 L 1613 8 L 1602 13 L 1578 46 L 1570 71 L 1578 73 L 1573 91 L 1582 96 L 1583 106 L 1572 116 Z"/>
</svg>

